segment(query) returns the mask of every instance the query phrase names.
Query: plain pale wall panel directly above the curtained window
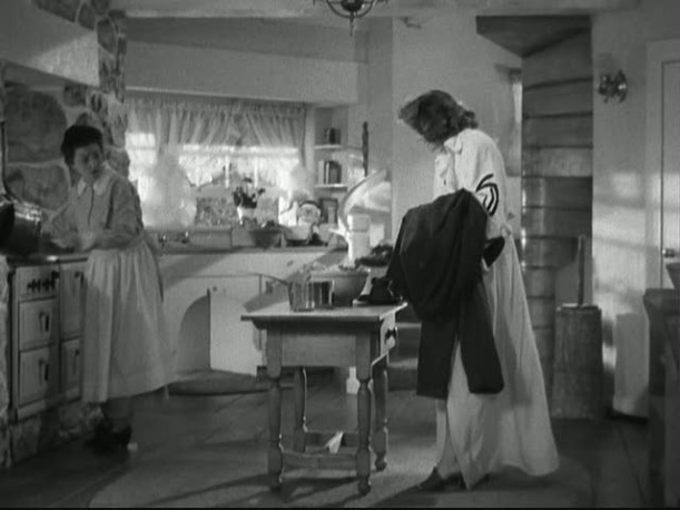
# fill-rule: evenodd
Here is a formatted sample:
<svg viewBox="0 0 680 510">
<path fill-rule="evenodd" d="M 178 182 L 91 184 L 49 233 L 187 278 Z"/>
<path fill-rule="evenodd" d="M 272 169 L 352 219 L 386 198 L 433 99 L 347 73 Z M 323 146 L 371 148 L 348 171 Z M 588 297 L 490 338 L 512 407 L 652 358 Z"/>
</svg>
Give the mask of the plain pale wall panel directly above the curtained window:
<svg viewBox="0 0 680 510">
<path fill-rule="evenodd" d="M 355 104 L 357 62 L 250 53 L 215 48 L 129 42 L 129 89 L 248 99 Z"/>
</svg>

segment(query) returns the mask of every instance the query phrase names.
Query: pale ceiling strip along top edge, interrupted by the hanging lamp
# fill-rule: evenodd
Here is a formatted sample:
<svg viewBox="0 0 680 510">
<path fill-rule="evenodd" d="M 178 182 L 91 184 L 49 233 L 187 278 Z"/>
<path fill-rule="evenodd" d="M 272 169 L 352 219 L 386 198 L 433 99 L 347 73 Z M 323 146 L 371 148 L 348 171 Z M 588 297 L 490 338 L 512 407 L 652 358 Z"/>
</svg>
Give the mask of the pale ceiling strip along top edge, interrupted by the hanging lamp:
<svg viewBox="0 0 680 510">
<path fill-rule="evenodd" d="M 637 7 L 639 0 L 378 0 L 369 17 L 433 16 L 471 9 L 484 16 L 588 14 Z M 131 18 L 306 18 L 339 20 L 325 0 L 110 0 Z M 346 20 L 344 20 L 346 23 Z"/>
</svg>

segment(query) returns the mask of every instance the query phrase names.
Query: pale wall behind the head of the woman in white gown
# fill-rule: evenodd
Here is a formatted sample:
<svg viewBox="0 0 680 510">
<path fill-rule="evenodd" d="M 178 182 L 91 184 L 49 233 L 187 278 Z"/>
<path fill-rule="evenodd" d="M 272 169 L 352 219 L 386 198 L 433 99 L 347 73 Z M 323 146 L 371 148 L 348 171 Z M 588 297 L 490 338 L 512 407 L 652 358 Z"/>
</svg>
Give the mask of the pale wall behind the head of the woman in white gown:
<svg viewBox="0 0 680 510">
<path fill-rule="evenodd" d="M 496 66 L 519 68 L 520 58 L 477 36 L 470 10 L 447 10 L 422 28 L 395 20 L 393 30 L 393 122 L 407 99 L 442 89 L 473 109 L 480 127 L 499 140 L 513 118 L 513 102 L 507 76 Z M 433 154 L 400 124 L 394 127 L 393 161 L 393 232 L 397 232 L 410 207 L 432 199 Z"/>
</svg>

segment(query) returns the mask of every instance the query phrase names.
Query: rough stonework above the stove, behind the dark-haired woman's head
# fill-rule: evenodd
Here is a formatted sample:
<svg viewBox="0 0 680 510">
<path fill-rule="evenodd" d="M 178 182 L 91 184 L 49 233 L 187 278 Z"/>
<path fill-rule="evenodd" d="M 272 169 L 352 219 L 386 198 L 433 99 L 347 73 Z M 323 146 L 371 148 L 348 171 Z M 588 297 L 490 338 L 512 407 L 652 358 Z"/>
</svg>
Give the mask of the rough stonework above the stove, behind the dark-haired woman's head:
<svg viewBox="0 0 680 510">
<path fill-rule="evenodd" d="M 33 1 L 42 10 L 96 30 L 99 41 L 99 88 L 67 85 L 38 90 L 22 84 L 6 84 L 7 186 L 21 199 L 57 209 L 66 202 L 69 179 L 73 178 L 59 151 L 68 126 L 88 124 L 101 129 L 107 160 L 118 171 L 128 174 L 122 105 L 125 19 L 109 10 L 108 0 Z"/>
</svg>

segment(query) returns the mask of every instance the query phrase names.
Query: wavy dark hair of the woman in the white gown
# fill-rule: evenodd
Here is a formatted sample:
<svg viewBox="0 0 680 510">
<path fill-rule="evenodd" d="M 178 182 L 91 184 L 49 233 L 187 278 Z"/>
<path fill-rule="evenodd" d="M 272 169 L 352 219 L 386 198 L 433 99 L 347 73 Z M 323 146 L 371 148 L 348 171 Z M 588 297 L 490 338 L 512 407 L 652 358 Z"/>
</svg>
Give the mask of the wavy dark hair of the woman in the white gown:
<svg viewBox="0 0 680 510">
<path fill-rule="evenodd" d="M 425 141 L 437 146 L 463 129 L 477 127 L 474 111 L 464 108 L 443 90 L 430 90 L 406 102 L 400 109 L 398 118 Z"/>
</svg>

